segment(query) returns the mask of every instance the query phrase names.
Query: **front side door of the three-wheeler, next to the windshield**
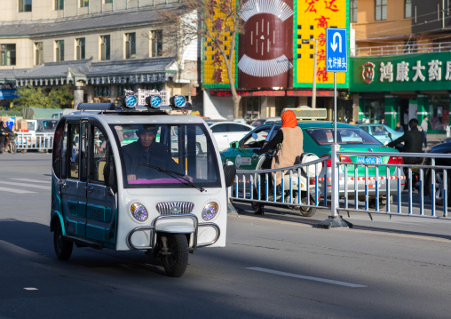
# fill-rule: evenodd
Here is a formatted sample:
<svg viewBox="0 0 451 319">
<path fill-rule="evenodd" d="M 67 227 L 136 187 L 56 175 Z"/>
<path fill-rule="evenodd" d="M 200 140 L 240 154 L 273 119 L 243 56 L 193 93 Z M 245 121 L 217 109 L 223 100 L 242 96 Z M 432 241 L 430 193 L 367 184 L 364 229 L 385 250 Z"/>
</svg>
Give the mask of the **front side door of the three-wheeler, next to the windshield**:
<svg viewBox="0 0 451 319">
<path fill-rule="evenodd" d="M 86 237 L 114 248 L 117 221 L 116 179 L 110 180 L 112 184 L 109 187 L 106 183 L 108 171 L 115 174 L 114 156 L 107 134 L 100 124 L 91 122 L 88 139 Z"/>
</svg>

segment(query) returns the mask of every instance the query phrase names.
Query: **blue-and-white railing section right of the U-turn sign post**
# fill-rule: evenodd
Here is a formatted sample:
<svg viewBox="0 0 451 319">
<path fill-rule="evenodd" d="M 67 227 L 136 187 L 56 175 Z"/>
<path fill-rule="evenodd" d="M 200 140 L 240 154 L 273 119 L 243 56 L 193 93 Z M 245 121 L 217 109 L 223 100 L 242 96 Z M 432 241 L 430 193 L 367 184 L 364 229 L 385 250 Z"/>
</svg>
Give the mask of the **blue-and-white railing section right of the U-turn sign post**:
<svg viewBox="0 0 451 319">
<path fill-rule="evenodd" d="M 449 159 L 447 154 L 428 153 L 382 153 L 374 152 L 368 156 L 396 156 L 428 159 L 429 164 L 400 163 L 349 163 L 340 162 L 339 156 L 361 156 L 357 152 L 337 151 L 332 156 L 337 171 L 342 176 L 331 187 L 337 188 L 338 199 L 334 211 L 362 211 L 398 216 L 415 216 L 434 219 L 451 219 L 448 217 L 450 166 L 436 165 L 437 158 Z M 335 160 L 335 161 L 334 161 Z M 364 167 L 364 176 L 357 176 L 359 167 Z M 346 169 L 344 169 L 346 168 Z M 391 173 L 389 168 L 394 169 Z M 373 170 L 370 174 L 368 171 Z M 354 173 L 349 173 L 354 171 Z M 381 173 L 382 171 L 382 173 Z M 436 180 L 439 177 L 439 180 Z M 356 198 L 363 199 L 360 201 Z M 385 201 L 385 203 L 384 203 Z M 391 203 L 392 202 L 392 203 Z"/>
</svg>

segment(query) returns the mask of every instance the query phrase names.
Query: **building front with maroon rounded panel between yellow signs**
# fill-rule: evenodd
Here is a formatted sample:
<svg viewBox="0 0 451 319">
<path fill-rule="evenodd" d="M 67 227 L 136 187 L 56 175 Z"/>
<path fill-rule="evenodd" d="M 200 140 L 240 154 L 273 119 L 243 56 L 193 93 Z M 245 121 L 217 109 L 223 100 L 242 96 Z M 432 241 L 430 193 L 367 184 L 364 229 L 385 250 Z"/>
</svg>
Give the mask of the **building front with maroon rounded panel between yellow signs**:
<svg viewBox="0 0 451 319">
<path fill-rule="evenodd" d="M 215 1 L 215 0 L 212 0 Z M 326 72 L 326 28 L 348 28 L 346 0 L 249 0 L 242 4 L 244 33 L 238 35 L 233 81 L 241 95 L 242 117 L 280 116 L 283 108 L 328 108 L 333 118 L 334 75 Z M 219 17 L 220 18 L 220 17 Z M 226 45 L 230 39 L 225 38 Z M 218 50 L 204 39 L 202 88 L 204 115 L 232 118 L 233 102 Z M 316 61 L 316 63 L 315 63 Z M 315 76 L 316 75 L 316 76 Z M 338 118 L 352 119 L 349 78 L 338 73 Z"/>
</svg>

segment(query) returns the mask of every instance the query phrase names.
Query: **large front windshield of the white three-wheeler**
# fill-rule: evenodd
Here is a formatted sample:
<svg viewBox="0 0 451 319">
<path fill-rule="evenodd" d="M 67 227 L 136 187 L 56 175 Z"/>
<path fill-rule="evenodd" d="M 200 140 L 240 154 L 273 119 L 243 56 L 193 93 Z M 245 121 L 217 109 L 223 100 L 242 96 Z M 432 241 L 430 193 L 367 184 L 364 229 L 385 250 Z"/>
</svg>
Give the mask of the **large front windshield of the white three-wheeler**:
<svg viewBox="0 0 451 319">
<path fill-rule="evenodd" d="M 202 124 L 112 124 L 124 187 L 220 187 L 218 159 Z M 194 185 L 193 185 L 194 183 Z"/>
</svg>

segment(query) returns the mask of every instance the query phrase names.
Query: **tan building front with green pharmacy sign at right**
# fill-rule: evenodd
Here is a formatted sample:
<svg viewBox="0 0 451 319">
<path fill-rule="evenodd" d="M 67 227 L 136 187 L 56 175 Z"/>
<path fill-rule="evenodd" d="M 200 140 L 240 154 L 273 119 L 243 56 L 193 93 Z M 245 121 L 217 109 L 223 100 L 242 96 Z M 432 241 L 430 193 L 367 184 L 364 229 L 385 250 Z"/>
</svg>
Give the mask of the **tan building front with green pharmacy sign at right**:
<svg viewBox="0 0 451 319">
<path fill-rule="evenodd" d="M 429 118 L 444 134 L 451 108 L 451 22 L 447 2 L 354 0 L 357 15 L 350 90 L 359 120 L 392 127 Z"/>
</svg>

